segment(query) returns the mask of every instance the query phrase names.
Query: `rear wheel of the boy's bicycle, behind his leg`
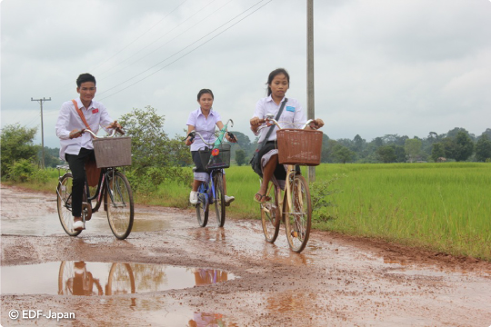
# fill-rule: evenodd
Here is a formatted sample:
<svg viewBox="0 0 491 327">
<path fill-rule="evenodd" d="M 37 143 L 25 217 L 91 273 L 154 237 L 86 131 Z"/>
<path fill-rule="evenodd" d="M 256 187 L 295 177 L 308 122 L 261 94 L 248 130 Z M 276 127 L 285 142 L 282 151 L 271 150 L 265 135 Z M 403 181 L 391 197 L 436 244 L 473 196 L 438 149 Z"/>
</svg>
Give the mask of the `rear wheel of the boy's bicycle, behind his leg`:
<svg viewBox="0 0 491 327">
<path fill-rule="evenodd" d="M 65 173 L 56 187 L 56 203 L 58 206 L 58 217 L 65 233 L 76 236 L 82 231 L 74 231 L 74 216 L 72 215 L 72 185 L 71 173 Z"/>
</svg>

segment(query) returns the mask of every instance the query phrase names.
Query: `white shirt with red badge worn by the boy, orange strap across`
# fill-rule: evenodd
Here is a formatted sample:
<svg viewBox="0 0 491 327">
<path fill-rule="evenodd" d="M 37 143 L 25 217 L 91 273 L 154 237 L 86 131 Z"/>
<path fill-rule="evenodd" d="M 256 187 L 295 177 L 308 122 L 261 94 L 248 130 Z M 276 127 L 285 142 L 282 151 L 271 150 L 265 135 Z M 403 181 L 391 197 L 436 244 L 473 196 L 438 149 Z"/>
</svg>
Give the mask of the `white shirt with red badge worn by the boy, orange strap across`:
<svg viewBox="0 0 491 327">
<path fill-rule="evenodd" d="M 85 108 L 80 98 L 75 99 L 78 108 L 82 110 L 87 124 L 92 132 L 97 134 L 99 127 L 105 127 L 113 123 L 113 119 L 107 113 L 105 105 L 92 100 L 88 108 Z M 70 139 L 70 132 L 75 129 L 83 129 L 85 124 L 80 118 L 80 115 L 75 110 L 75 105 L 72 101 L 67 101 L 62 104 L 60 114 L 56 121 L 55 131 L 56 136 L 60 139 L 60 159 L 65 160 L 65 154 L 79 154 L 81 148 L 94 149 L 92 144 L 92 135 L 89 133 L 82 136 Z M 108 130 L 106 130 L 108 132 Z"/>
</svg>

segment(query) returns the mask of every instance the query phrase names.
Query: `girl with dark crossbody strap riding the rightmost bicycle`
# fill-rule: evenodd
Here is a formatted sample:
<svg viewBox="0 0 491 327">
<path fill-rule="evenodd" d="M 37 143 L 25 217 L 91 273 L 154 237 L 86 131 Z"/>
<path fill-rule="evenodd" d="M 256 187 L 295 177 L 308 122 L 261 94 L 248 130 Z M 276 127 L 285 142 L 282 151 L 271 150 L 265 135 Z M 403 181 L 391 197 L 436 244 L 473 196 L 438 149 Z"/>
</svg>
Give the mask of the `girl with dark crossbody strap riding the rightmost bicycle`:
<svg viewBox="0 0 491 327">
<path fill-rule="evenodd" d="M 278 68 L 271 72 L 267 79 L 267 97 L 259 100 L 256 104 L 256 110 L 250 120 L 251 130 L 254 134 L 259 135 L 258 143 L 266 141 L 259 151 L 261 157 L 261 168 L 263 171 L 263 182 L 259 191 L 254 196 L 254 201 L 264 203 L 266 199 L 266 187 L 270 180 L 279 185 L 282 189 L 285 188 L 286 168 L 283 164 L 278 164 L 278 150 L 276 148 L 276 131 L 277 126 L 273 127 L 273 133 L 265 140 L 269 128 L 263 128 L 259 133 L 257 129 L 264 123 L 266 114 L 276 114 L 281 107 L 281 103 L 285 99 L 286 91 L 290 86 L 290 75 L 284 68 Z M 306 123 L 306 111 L 295 99 L 287 99 L 282 114 L 278 122 L 288 123 Z M 316 119 L 311 126 L 306 129 L 317 129 L 324 125 L 322 119 Z M 288 126 L 291 128 L 291 126 Z"/>
</svg>

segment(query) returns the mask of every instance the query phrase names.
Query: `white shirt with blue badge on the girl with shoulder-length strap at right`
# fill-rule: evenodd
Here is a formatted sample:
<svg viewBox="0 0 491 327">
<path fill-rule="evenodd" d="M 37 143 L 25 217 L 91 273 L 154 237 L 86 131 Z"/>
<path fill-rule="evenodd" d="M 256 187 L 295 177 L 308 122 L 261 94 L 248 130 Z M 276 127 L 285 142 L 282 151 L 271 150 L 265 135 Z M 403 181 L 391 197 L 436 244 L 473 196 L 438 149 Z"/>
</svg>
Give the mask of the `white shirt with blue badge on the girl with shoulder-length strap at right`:
<svg viewBox="0 0 491 327">
<path fill-rule="evenodd" d="M 278 123 L 280 123 L 282 128 L 299 128 L 298 125 L 288 125 L 285 124 L 285 122 L 299 124 L 306 123 L 306 111 L 302 108 L 302 105 L 296 101 L 296 99 L 287 99 L 288 101 L 285 104 L 285 108 L 283 108 L 283 113 L 281 113 Z M 273 114 L 273 117 L 276 118 L 276 114 L 278 114 L 284 100 L 285 98 L 281 100 L 280 104 L 276 104 L 271 95 L 259 100 L 256 104 L 256 110 L 254 111 L 252 118 L 258 117 L 260 119 L 264 119 L 266 118 L 266 114 Z M 282 124 L 282 122 L 284 122 L 284 124 Z M 278 127 L 275 126 L 274 128 L 275 130 L 269 135 L 268 141 L 276 140 L 276 131 L 278 130 Z M 266 138 L 268 130 L 269 128 L 263 128 L 261 131 L 256 133 L 256 136 L 259 135 L 259 143 L 263 142 L 263 140 Z"/>
</svg>

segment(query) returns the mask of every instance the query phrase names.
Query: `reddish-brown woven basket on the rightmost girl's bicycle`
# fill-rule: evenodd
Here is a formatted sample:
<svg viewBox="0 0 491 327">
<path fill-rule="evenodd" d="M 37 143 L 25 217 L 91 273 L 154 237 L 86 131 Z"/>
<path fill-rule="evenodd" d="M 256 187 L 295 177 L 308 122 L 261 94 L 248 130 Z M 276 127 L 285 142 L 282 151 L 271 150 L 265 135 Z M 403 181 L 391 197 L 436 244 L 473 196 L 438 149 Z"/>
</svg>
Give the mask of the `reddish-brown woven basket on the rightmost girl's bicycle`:
<svg viewBox="0 0 491 327">
<path fill-rule="evenodd" d="M 284 128 L 276 132 L 278 161 L 281 164 L 320 164 L 322 132 Z"/>
</svg>

